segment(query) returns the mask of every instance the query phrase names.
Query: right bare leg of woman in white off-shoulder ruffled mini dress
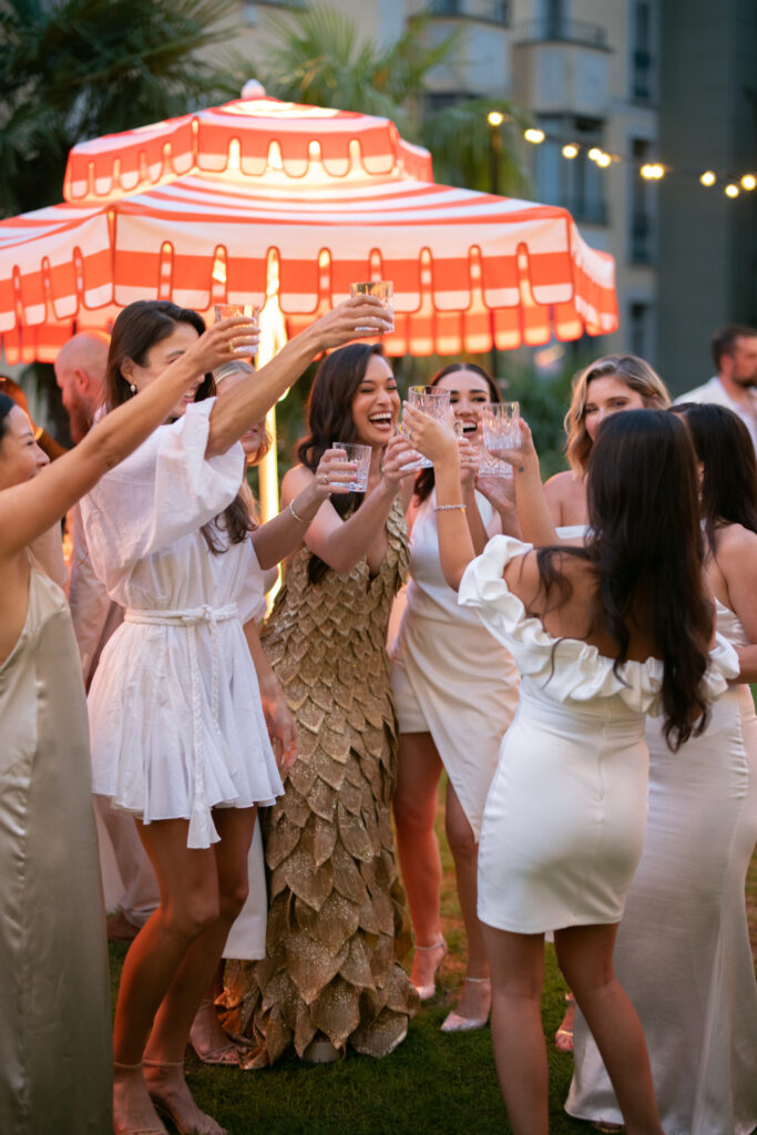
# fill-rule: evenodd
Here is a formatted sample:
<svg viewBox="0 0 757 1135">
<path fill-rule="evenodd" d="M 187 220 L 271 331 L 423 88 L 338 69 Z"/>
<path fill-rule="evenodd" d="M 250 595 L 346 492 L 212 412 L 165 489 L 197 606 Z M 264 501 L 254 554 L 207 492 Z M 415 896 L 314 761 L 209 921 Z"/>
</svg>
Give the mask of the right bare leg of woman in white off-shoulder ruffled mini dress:
<svg viewBox="0 0 757 1135">
<path fill-rule="evenodd" d="M 663 1135 L 641 1025 L 613 972 L 616 934 L 616 925 L 556 931 L 557 960 L 597 1042 L 626 1135 Z"/>
</svg>

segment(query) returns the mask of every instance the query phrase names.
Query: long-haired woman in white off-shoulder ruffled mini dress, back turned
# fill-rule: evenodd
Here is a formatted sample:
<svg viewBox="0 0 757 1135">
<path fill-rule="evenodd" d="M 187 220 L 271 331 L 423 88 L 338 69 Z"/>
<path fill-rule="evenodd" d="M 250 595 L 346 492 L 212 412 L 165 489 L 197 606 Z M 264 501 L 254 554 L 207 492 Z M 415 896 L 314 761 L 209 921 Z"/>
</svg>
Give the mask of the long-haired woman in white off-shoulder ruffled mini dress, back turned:
<svg viewBox="0 0 757 1135">
<path fill-rule="evenodd" d="M 535 552 L 495 537 L 473 560 L 455 439 L 423 414 L 405 418 L 413 446 L 435 462 L 445 575 L 521 672 L 483 814 L 478 900 L 513 1132 L 548 1130 L 540 994 L 544 932 L 554 930 L 626 1132 L 662 1135 L 644 1034 L 612 958 L 644 840 L 645 715 L 662 713 L 678 749 L 701 732 L 709 698 L 725 686 L 708 670 L 713 608 L 693 447 L 671 414 L 613 415 L 589 460 L 586 545 Z M 516 491 L 521 479 L 538 481 L 524 423 L 522 442 L 505 455 Z M 733 662 L 726 646 L 722 654 Z"/>
</svg>

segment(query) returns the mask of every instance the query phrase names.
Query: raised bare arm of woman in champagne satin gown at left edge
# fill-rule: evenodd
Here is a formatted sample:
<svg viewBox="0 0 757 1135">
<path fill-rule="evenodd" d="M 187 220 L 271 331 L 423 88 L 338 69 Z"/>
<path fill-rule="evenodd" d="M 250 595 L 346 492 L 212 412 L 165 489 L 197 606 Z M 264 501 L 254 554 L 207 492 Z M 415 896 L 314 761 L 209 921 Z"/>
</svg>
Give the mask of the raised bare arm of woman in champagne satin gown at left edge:
<svg viewBox="0 0 757 1135">
<path fill-rule="evenodd" d="M 245 335 L 239 327 L 245 322 L 236 317 L 211 327 L 154 382 L 98 422 L 74 449 L 32 480 L 0 491 L 0 556 L 12 556 L 25 548 L 89 493 L 103 473 L 136 449 L 165 421 L 199 373 L 238 358 L 232 351 L 232 340 L 254 342 L 254 336 Z M 35 444 L 31 423 L 25 444 Z"/>
</svg>

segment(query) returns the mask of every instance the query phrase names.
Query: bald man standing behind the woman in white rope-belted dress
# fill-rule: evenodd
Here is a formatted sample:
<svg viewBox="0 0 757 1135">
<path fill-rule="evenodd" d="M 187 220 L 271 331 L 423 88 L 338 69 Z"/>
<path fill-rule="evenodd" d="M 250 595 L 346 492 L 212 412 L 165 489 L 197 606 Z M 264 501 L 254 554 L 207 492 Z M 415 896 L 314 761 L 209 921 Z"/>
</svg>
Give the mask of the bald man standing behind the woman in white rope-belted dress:
<svg viewBox="0 0 757 1135">
<path fill-rule="evenodd" d="M 78 443 L 91 428 L 103 396 L 110 339 L 101 331 L 81 331 L 56 359 L 56 380 L 68 413 L 72 440 Z M 106 642 L 120 625 L 124 612 L 113 603 L 92 570 L 79 506 L 75 505 L 68 602 L 82 657 L 85 686 Z M 106 903 L 119 913 L 108 919 L 108 938 L 133 939 L 158 905 L 158 881 L 132 816 L 116 812 L 103 797 L 94 797 Z M 123 893 L 121 893 L 123 891 Z"/>
</svg>

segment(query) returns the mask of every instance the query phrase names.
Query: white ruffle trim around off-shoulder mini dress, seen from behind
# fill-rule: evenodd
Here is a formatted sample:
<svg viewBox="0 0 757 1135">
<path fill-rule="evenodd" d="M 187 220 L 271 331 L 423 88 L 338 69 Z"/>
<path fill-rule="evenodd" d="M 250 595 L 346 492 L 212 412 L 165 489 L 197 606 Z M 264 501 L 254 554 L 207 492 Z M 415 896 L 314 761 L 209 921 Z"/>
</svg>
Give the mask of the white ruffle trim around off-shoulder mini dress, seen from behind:
<svg viewBox="0 0 757 1135">
<path fill-rule="evenodd" d="M 639 713 L 661 711 L 663 663 L 658 658 L 625 662 L 617 667 L 596 646 L 580 639 L 556 639 L 541 621 L 529 615 L 507 587 L 503 572 L 511 560 L 525 555 L 532 545 L 511 536 L 495 536 L 473 560 L 460 585 L 459 602 L 473 607 L 483 625 L 513 655 L 520 673 L 532 679 L 557 701 L 588 701 L 619 696 Z M 721 636 L 710 651 L 705 693 L 714 700 L 727 679 L 738 674 L 738 658 Z"/>
</svg>

